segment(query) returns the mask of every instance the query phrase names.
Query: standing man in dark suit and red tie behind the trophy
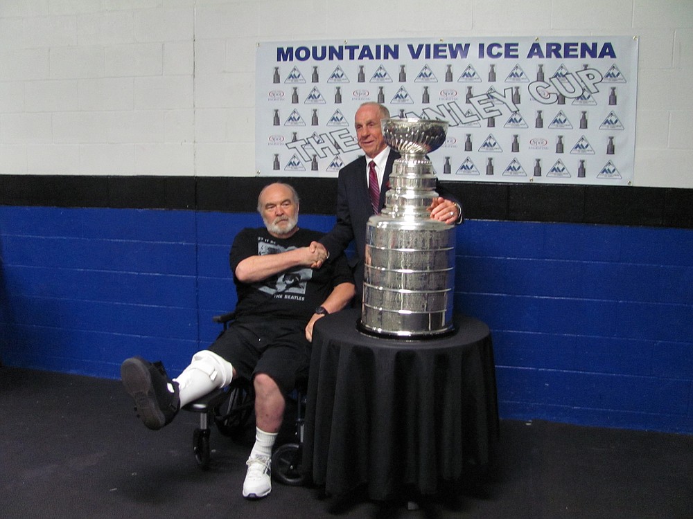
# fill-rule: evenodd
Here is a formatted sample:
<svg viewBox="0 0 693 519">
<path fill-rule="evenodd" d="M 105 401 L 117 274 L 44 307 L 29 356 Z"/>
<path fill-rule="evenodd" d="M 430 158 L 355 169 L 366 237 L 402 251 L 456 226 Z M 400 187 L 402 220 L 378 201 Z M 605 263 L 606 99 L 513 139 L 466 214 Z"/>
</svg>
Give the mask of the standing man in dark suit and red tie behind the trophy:
<svg viewBox="0 0 693 519">
<path fill-rule="evenodd" d="M 363 290 L 367 222 L 372 215 L 383 209 L 392 164 L 400 157 L 398 152 L 385 143 L 380 120 L 386 118 L 389 118 L 389 111 L 376 102 L 365 102 L 356 111 L 356 138 L 365 156 L 356 158 L 340 170 L 337 180 L 337 222 L 320 240 L 330 257 L 340 255 L 352 240 L 356 242 L 357 257 L 351 260 L 351 267 L 357 295 Z M 371 167 L 371 161 L 374 167 Z M 375 173 L 371 172 L 371 169 L 374 169 Z M 377 208 L 371 203 L 371 189 L 374 188 L 369 186 L 369 176 L 372 174 L 376 174 L 378 178 Z M 431 218 L 450 225 L 462 223 L 460 203 L 448 196 L 440 186 L 437 186 L 436 191 L 442 196 L 431 204 Z M 378 192 L 374 192 L 374 197 L 377 197 Z"/>
</svg>

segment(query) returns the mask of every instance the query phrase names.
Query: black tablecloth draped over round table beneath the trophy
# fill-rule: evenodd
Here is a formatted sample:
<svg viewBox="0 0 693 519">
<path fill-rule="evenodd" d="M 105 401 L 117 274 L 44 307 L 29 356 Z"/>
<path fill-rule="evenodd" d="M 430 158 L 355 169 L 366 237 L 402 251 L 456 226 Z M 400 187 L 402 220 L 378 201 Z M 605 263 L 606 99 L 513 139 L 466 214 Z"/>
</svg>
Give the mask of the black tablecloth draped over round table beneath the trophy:
<svg viewBox="0 0 693 519">
<path fill-rule="evenodd" d="M 331 495 L 436 493 L 493 460 L 498 441 L 493 344 L 455 316 L 441 338 L 362 334 L 351 309 L 318 320 L 308 379 L 304 469 Z"/>
</svg>

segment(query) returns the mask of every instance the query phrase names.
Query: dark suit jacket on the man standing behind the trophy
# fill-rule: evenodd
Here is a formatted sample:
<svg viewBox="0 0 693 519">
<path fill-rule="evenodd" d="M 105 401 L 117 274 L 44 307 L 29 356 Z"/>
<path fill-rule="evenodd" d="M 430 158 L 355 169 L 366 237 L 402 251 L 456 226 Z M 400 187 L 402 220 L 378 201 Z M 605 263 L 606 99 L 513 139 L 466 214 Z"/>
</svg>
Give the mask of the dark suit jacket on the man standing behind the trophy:
<svg viewBox="0 0 693 519">
<path fill-rule="evenodd" d="M 385 206 L 385 192 L 389 189 L 389 175 L 392 172 L 392 164 L 400 157 L 394 149 L 390 149 L 383 174 L 383 183 L 380 185 L 380 204 L 378 210 Z M 450 197 L 446 190 L 439 185 L 436 191 L 446 199 Z M 462 207 L 462 206 L 460 206 Z M 368 219 L 373 216 L 371 198 L 368 192 L 366 180 L 366 157 L 360 156 L 351 161 L 340 170 L 337 179 L 337 222 L 332 230 L 327 233 L 320 242 L 330 253 L 330 257 L 337 257 L 344 251 L 352 240 L 356 242 L 356 258 L 349 260 L 356 282 L 356 292 L 363 290 L 363 262 L 366 251 L 366 226 Z"/>
</svg>

